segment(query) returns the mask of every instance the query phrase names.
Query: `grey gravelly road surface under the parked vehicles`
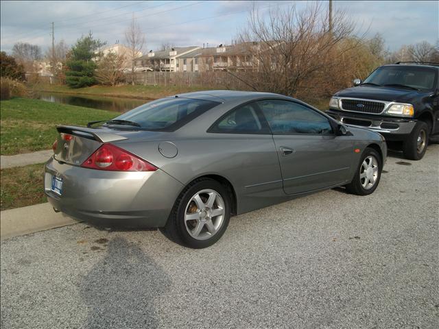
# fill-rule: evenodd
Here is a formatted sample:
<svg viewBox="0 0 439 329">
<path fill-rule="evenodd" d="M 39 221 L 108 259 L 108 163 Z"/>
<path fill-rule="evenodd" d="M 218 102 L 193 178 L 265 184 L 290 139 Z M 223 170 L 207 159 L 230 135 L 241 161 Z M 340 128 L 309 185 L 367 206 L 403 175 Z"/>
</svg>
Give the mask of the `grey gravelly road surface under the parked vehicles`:
<svg viewBox="0 0 439 329">
<path fill-rule="evenodd" d="M 234 217 L 208 249 L 82 223 L 3 241 L 1 328 L 438 328 L 439 145 L 385 171 L 368 197 Z"/>
</svg>

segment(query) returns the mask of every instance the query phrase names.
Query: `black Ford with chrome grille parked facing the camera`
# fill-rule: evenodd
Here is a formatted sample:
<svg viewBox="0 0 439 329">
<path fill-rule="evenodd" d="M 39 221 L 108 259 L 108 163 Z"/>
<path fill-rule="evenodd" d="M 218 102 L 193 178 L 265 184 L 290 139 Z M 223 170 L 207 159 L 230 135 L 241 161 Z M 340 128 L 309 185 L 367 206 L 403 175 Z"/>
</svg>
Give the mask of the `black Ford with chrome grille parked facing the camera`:
<svg viewBox="0 0 439 329">
<path fill-rule="evenodd" d="M 327 113 L 379 132 L 388 142 L 402 142 L 405 158 L 420 160 L 429 138 L 439 135 L 439 63 L 380 66 L 363 82 L 355 79 L 354 87 L 335 93 Z"/>
</svg>

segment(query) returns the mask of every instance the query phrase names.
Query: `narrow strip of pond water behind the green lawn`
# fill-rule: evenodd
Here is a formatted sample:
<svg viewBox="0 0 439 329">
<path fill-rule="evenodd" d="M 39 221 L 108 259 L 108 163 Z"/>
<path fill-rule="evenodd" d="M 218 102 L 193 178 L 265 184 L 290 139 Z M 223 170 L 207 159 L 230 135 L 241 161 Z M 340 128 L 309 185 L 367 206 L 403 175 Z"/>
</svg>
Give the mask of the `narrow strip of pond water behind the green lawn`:
<svg viewBox="0 0 439 329">
<path fill-rule="evenodd" d="M 52 103 L 63 103 L 84 108 L 97 108 L 114 112 L 126 112 L 147 103 L 147 99 L 132 99 L 119 97 L 96 97 L 88 95 L 72 95 L 64 93 L 45 93 L 40 92 L 36 95 L 37 99 L 51 101 Z"/>
</svg>

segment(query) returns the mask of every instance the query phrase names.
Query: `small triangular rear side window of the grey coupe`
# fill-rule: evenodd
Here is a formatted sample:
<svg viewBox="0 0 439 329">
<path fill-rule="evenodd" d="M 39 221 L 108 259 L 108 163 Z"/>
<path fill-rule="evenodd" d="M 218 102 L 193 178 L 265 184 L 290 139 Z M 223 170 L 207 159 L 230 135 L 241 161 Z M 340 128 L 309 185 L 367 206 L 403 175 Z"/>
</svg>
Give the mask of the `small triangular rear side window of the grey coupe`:
<svg viewBox="0 0 439 329">
<path fill-rule="evenodd" d="M 219 119 L 209 132 L 229 134 L 270 134 L 265 121 L 261 121 L 258 108 L 254 104 L 246 104 L 228 112 Z"/>
</svg>

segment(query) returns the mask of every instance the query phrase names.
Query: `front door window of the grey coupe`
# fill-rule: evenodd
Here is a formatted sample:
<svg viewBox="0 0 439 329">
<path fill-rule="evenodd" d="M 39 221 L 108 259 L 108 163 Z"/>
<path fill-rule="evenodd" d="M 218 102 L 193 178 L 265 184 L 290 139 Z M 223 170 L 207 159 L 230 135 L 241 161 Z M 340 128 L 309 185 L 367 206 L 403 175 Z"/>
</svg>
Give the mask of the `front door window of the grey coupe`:
<svg viewBox="0 0 439 329">
<path fill-rule="evenodd" d="M 327 117 L 299 103 L 258 101 L 273 134 L 332 134 Z"/>
</svg>

